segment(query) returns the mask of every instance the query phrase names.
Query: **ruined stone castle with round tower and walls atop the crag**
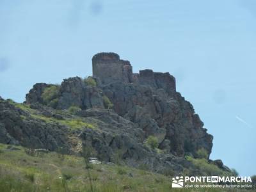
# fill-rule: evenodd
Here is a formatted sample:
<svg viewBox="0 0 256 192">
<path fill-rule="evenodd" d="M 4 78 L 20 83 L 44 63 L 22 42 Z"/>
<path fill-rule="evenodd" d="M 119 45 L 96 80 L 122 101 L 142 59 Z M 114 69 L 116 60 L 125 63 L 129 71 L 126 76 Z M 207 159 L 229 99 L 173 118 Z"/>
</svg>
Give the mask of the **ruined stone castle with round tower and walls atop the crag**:
<svg viewBox="0 0 256 192">
<path fill-rule="evenodd" d="M 132 72 L 129 61 L 120 60 L 118 54 L 113 52 L 101 52 L 92 58 L 93 77 L 100 84 L 108 84 L 116 81 L 124 83 L 140 83 L 152 88 L 176 91 L 175 77 L 168 72 L 153 72 L 153 70 L 140 70 L 139 74 Z"/>
</svg>

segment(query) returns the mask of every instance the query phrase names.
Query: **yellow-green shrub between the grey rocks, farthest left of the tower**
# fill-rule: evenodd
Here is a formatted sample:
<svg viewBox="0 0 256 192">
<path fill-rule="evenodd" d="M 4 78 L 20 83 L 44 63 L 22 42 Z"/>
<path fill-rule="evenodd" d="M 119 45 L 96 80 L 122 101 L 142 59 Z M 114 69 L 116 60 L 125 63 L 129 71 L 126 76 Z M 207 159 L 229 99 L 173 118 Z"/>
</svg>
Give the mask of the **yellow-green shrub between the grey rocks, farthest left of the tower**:
<svg viewBox="0 0 256 192">
<path fill-rule="evenodd" d="M 42 93 L 42 99 L 45 104 L 50 104 L 50 102 L 58 97 L 58 93 L 60 90 L 60 86 L 58 85 L 51 85 L 44 89 Z M 56 102 L 56 100 L 54 101 Z"/>
</svg>

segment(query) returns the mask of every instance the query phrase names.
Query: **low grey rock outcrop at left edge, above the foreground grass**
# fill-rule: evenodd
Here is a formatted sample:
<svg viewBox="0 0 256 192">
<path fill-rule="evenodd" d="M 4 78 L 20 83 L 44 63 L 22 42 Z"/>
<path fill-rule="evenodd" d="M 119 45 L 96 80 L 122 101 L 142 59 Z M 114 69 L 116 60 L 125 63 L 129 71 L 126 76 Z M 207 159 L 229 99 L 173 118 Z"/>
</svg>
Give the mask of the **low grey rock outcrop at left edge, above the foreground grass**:
<svg viewBox="0 0 256 192">
<path fill-rule="evenodd" d="M 49 150 L 70 148 L 67 127 L 33 118 L 6 100 L 0 100 L 0 142 Z"/>
</svg>

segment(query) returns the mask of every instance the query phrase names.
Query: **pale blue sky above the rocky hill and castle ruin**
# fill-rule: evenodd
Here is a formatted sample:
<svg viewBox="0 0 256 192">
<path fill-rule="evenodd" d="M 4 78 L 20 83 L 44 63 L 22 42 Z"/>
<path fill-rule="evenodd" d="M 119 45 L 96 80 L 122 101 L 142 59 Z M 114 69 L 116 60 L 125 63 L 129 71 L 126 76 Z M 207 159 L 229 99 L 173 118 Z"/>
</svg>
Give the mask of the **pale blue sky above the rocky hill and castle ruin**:
<svg viewBox="0 0 256 192">
<path fill-rule="evenodd" d="M 214 136 L 211 159 L 256 174 L 256 1 L 0 0 L 0 96 L 92 75 L 116 52 L 170 72 Z"/>
</svg>

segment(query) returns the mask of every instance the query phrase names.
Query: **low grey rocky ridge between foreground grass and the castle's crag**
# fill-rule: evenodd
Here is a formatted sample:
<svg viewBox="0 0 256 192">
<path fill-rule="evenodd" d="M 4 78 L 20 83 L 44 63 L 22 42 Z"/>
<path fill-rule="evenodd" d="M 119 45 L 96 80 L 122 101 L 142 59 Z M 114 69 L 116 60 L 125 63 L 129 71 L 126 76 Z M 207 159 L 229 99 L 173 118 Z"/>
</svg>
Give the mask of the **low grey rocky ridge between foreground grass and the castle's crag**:
<svg viewBox="0 0 256 192">
<path fill-rule="evenodd" d="M 93 148 L 100 161 L 143 166 L 159 173 L 165 173 L 166 168 L 172 172 L 184 169 L 180 164 L 184 159 L 147 147 L 143 130 L 111 109 L 91 108 L 77 114 L 79 120 L 97 125 L 93 129 L 63 124 L 76 118 L 59 112 L 41 104 L 20 106 L 0 101 L 0 142 L 73 154 L 81 152 L 79 143 L 83 143 L 84 147 Z"/>
</svg>

